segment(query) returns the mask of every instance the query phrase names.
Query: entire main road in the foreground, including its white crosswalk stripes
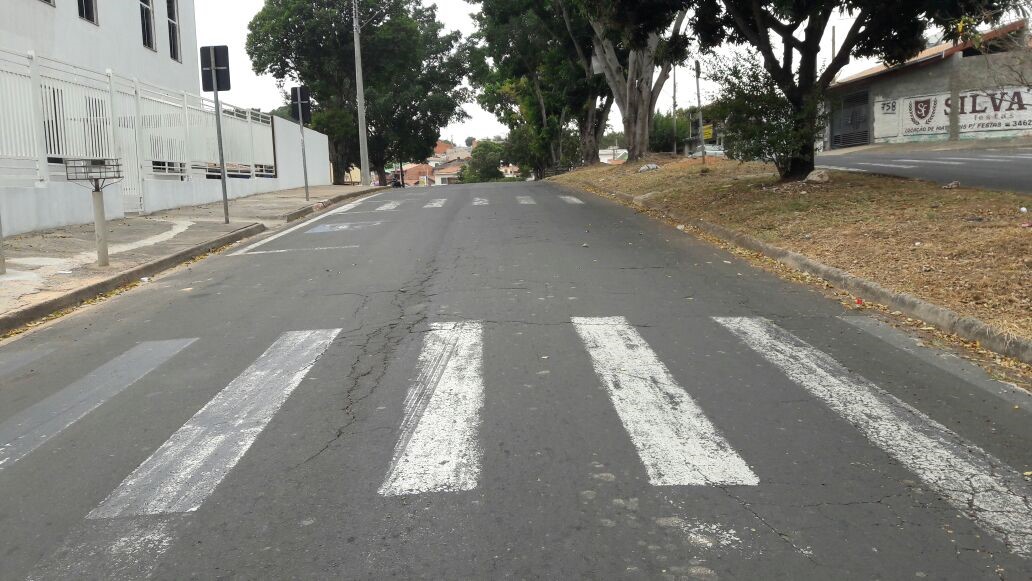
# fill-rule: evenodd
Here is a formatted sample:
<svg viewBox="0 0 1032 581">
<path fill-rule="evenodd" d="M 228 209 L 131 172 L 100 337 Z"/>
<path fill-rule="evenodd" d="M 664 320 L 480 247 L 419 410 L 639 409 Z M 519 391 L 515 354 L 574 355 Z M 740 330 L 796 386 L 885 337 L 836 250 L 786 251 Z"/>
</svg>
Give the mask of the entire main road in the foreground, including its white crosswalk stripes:
<svg viewBox="0 0 1032 581">
<path fill-rule="evenodd" d="M 0 578 L 1025 579 L 1030 398 L 549 184 L 0 346 Z"/>
</svg>

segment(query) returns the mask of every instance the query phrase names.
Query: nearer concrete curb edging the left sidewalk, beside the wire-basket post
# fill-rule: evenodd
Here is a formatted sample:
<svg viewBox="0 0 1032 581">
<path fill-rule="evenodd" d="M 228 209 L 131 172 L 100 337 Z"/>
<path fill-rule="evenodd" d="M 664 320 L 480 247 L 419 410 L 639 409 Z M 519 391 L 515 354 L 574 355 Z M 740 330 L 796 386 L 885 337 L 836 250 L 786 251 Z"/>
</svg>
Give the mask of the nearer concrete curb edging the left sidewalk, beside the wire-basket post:
<svg viewBox="0 0 1032 581">
<path fill-rule="evenodd" d="M 181 250 L 175 254 L 163 256 L 157 260 L 140 264 L 139 266 L 134 266 L 128 270 L 115 275 L 114 277 L 75 289 L 61 296 L 56 296 L 38 304 L 26 306 L 25 309 L 20 309 L 18 311 L 7 313 L 6 315 L 0 315 L 0 335 L 4 335 L 19 327 L 47 317 L 58 311 L 61 311 L 62 309 L 77 306 L 83 301 L 90 300 L 91 298 L 95 298 L 106 292 L 124 287 L 143 277 L 157 275 L 158 272 L 167 270 L 217 248 L 243 240 L 244 238 L 249 238 L 264 231 L 264 224 L 250 224 L 243 228 L 237 228 L 232 232 L 223 234 L 218 238 Z"/>
</svg>

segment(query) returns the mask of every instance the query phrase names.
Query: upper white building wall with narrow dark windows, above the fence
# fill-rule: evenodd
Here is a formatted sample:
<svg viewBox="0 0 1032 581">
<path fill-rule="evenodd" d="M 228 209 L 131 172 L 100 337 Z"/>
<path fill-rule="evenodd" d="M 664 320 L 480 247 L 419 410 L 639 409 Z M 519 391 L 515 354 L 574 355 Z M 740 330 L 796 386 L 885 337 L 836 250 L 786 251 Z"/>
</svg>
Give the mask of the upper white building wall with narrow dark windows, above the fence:
<svg viewBox="0 0 1032 581">
<path fill-rule="evenodd" d="M 143 45 L 137 0 L 96 0 L 97 24 L 78 17 L 74 0 L 2 0 L 0 38 L 5 50 L 37 55 L 96 71 L 196 93 L 200 85 L 194 0 L 178 0 L 183 62 L 169 56 L 165 0 L 154 2 L 154 51 Z"/>
</svg>

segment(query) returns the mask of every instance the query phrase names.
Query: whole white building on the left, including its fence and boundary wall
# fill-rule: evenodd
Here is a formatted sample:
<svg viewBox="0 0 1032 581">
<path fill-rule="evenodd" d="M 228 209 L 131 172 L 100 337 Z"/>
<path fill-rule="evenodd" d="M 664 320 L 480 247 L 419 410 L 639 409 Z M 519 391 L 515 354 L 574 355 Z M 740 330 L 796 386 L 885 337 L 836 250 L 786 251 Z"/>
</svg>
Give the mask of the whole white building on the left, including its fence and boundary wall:
<svg viewBox="0 0 1032 581">
<path fill-rule="evenodd" d="M 217 117 L 230 197 L 303 185 L 295 123 L 199 94 L 193 0 L 3 2 L 5 234 L 92 221 L 89 191 L 64 179 L 67 159 L 119 160 L 110 218 L 218 201 Z M 304 131 L 310 183 L 327 185 L 326 136 Z"/>
</svg>

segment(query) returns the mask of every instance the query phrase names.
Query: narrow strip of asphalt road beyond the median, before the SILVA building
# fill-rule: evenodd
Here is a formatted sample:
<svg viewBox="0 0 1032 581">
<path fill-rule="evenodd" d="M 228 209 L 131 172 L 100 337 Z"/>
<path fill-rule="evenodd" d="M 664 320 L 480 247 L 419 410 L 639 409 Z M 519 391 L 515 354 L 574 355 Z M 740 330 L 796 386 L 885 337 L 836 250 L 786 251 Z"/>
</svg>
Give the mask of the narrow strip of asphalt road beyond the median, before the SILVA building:
<svg viewBox="0 0 1032 581">
<path fill-rule="evenodd" d="M 1032 194 L 1032 148 L 843 150 L 817 165 Z"/>
</svg>

